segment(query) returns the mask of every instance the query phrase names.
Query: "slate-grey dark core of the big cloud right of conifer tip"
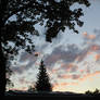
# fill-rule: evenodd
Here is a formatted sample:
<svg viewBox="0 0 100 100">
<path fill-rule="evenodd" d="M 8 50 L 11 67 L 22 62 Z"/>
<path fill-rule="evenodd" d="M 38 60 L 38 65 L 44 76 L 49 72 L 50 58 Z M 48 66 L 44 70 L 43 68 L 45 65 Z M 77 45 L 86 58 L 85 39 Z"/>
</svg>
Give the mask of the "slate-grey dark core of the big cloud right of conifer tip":
<svg viewBox="0 0 100 100">
<path fill-rule="evenodd" d="M 74 62 L 77 58 L 79 49 L 76 45 L 68 45 L 66 48 L 63 46 L 54 48 L 51 54 L 47 55 L 45 63 L 47 65 L 53 65 L 57 61 L 63 60 L 64 62 Z"/>
</svg>

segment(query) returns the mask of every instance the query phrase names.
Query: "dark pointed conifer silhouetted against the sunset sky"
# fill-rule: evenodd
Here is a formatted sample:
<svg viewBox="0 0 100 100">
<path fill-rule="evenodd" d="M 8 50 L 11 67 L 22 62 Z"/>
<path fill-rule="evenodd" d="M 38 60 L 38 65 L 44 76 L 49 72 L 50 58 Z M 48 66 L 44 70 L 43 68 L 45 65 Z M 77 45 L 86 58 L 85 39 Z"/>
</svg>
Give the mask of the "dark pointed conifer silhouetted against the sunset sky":
<svg viewBox="0 0 100 100">
<path fill-rule="evenodd" d="M 40 62 L 38 80 L 36 82 L 35 88 L 37 91 L 52 91 L 52 87 L 49 83 L 49 76 L 42 60 Z"/>
</svg>

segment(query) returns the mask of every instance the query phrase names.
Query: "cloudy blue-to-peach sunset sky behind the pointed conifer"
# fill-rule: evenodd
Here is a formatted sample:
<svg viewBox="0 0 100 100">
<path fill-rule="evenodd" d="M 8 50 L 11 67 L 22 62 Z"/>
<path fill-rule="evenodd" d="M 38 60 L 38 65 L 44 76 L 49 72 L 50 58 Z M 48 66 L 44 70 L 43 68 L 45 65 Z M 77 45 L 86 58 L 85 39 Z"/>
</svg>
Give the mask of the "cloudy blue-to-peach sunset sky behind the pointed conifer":
<svg viewBox="0 0 100 100">
<path fill-rule="evenodd" d="M 66 28 L 50 43 L 45 41 L 43 26 L 35 26 L 40 32 L 39 37 L 33 37 L 36 51 L 32 54 L 22 52 L 17 61 L 13 61 L 12 89 L 26 90 L 35 85 L 41 59 L 53 91 L 85 92 L 100 89 L 100 0 L 90 2 L 89 8 L 82 5 L 85 15 L 80 17 L 84 26 L 76 26 L 79 34 Z"/>
</svg>

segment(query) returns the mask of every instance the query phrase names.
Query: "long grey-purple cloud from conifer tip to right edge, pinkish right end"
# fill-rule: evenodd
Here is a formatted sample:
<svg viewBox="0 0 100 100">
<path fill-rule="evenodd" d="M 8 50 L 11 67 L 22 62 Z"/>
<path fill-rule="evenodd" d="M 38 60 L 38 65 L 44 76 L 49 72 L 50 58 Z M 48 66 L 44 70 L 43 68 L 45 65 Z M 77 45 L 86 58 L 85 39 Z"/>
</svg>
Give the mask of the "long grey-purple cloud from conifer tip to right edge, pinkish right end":
<svg viewBox="0 0 100 100">
<path fill-rule="evenodd" d="M 89 52 L 99 52 L 99 45 L 90 45 L 86 48 L 78 48 L 76 45 L 68 45 L 67 49 L 63 49 L 61 46 L 55 48 L 51 54 L 47 55 L 45 62 L 47 65 L 53 65 L 55 62 L 62 60 L 65 63 L 74 62 L 77 59 L 77 63 L 84 61 Z"/>
</svg>

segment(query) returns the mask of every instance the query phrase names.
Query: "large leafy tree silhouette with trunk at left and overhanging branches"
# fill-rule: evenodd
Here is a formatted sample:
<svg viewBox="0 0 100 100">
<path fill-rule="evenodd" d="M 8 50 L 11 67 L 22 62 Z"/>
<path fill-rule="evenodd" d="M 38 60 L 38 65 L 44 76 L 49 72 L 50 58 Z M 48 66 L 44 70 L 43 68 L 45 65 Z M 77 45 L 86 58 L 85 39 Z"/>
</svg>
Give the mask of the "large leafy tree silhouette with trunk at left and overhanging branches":
<svg viewBox="0 0 100 100">
<path fill-rule="evenodd" d="M 46 22 L 46 40 L 50 42 L 66 26 L 78 33 L 75 25 L 83 26 L 79 17 L 84 13 L 80 8 L 71 10 L 74 3 L 90 5 L 88 0 L 0 0 L 0 95 L 5 90 L 7 61 L 21 49 L 34 51 L 29 36 L 39 35 L 35 24 Z"/>
</svg>

